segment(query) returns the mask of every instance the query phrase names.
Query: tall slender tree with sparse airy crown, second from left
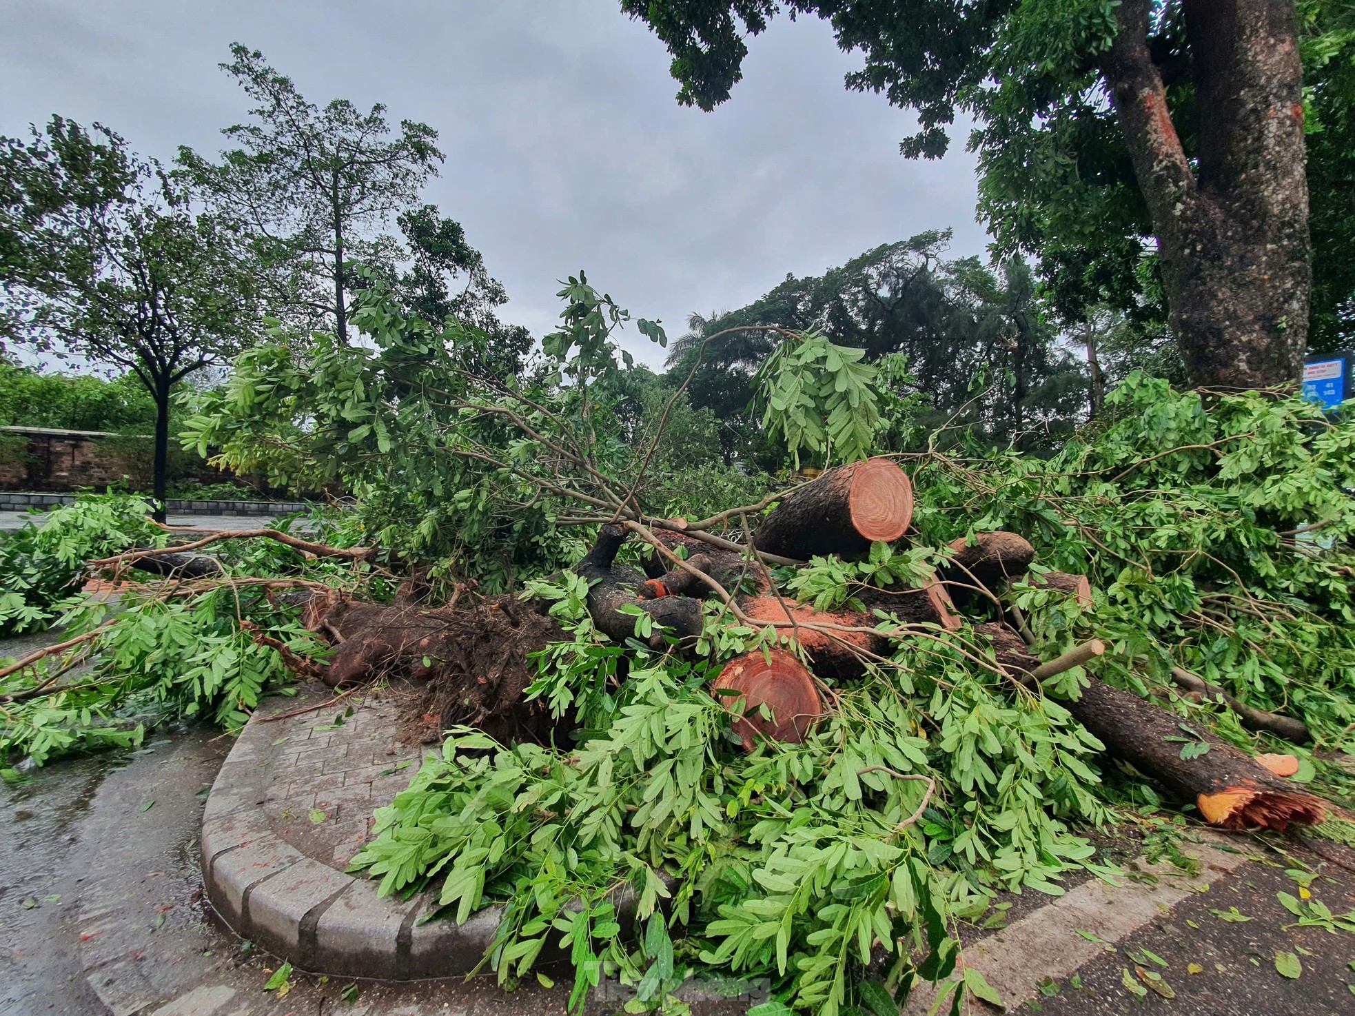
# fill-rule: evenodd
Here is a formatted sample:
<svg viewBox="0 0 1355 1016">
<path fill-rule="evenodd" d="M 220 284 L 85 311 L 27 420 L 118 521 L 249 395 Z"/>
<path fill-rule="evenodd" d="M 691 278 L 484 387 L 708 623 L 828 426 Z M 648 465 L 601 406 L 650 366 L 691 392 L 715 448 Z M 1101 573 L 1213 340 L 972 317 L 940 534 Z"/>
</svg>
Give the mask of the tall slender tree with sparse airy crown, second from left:
<svg viewBox="0 0 1355 1016">
<path fill-rule="evenodd" d="M 221 66 L 257 103 L 252 119 L 222 131 L 238 148 L 220 163 L 180 148 L 179 164 L 220 214 L 256 232 L 274 306 L 304 325 L 328 324 L 346 343 L 347 263 L 392 260 L 396 241 L 377 230 L 436 175 L 438 131 L 413 121 L 393 131 L 379 103 L 367 112 L 347 99 L 320 108 L 257 50 L 237 42 L 230 56 Z"/>
</svg>

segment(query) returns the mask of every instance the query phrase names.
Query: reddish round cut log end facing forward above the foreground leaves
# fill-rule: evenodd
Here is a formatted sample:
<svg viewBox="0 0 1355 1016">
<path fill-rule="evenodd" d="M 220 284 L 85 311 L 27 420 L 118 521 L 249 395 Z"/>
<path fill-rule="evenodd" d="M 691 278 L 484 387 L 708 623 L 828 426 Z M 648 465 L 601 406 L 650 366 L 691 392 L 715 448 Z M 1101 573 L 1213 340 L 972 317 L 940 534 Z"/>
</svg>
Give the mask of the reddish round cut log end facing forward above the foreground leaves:
<svg viewBox="0 0 1355 1016">
<path fill-rule="evenodd" d="M 737 694 L 728 694 L 730 691 Z M 772 741 L 799 744 L 824 715 L 824 700 L 814 687 L 814 676 L 785 649 L 730 660 L 715 679 L 713 692 L 730 713 L 741 713 L 733 727 L 749 752 L 759 734 Z M 770 718 L 763 715 L 764 706 Z"/>
</svg>

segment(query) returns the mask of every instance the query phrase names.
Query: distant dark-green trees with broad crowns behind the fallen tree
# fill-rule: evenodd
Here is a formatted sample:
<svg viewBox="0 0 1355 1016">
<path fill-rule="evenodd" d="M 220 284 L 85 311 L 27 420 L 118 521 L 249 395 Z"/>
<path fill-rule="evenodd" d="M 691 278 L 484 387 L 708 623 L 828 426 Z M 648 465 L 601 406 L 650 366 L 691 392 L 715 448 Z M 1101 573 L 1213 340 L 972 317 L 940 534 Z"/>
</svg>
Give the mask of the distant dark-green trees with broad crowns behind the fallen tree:
<svg viewBox="0 0 1355 1016">
<path fill-rule="evenodd" d="M 762 329 L 813 331 L 864 351 L 866 363 L 897 358 L 885 367 L 894 383 L 881 387 L 908 398 L 909 406 L 882 415 L 894 428 L 883 447 L 904 450 L 917 439 L 908 417 L 932 429 L 948 423 L 954 433 L 967 431 L 989 443 L 1049 444 L 1081 416 L 1085 374 L 1060 348 L 1045 298 L 1024 264 L 986 268 L 977 259 L 948 260 L 948 240 L 943 230 L 919 233 L 822 276 L 787 276 L 745 308 L 694 314 L 672 345 L 669 367 L 686 373 L 701 351 L 692 404 L 737 420 L 779 345 Z M 722 431 L 721 440 L 730 454 L 738 448 L 741 458 L 766 467 L 747 433 L 757 433 L 753 423 L 748 417 L 744 432 Z"/>
</svg>

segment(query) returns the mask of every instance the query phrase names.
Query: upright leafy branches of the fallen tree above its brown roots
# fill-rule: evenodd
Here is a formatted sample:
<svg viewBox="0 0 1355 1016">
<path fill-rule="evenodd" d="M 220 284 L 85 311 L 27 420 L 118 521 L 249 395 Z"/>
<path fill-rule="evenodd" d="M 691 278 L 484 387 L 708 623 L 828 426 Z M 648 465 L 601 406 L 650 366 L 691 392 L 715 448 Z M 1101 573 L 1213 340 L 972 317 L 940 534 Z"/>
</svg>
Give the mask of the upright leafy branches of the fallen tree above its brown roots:
<svg viewBox="0 0 1355 1016">
<path fill-rule="evenodd" d="M 630 316 L 583 272 L 561 290 L 561 329 L 524 381 L 472 374 L 463 364 L 488 350 L 485 332 L 406 314 L 378 274 L 363 278 L 352 322 L 370 347 L 318 335 L 297 358 L 276 333 L 237 360 L 184 440 L 278 485 L 339 481 L 370 539 L 485 591 L 575 564 L 581 538 L 561 519 L 581 507 L 576 492 L 612 504 L 599 478 L 657 477 L 649 511 L 668 497 L 665 482 L 682 482 L 673 470 L 699 469 L 709 421 L 679 406 L 686 432 L 667 428 L 672 413 L 659 427 L 680 393 L 656 396 L 633 370 L 612 337 Z M 638 324 L 664 340 L 657 322 Z"/>
</svg>

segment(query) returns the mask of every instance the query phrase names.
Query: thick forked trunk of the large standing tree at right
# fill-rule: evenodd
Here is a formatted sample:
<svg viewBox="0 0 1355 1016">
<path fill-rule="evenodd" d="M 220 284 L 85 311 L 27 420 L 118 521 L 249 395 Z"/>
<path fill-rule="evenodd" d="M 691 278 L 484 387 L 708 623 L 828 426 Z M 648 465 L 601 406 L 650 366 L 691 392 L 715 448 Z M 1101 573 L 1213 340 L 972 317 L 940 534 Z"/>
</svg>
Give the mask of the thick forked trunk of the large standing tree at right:
<svg viewBox="0 0 1355 1016">
<path fill-rule="evenodd" d="M 1293 0 L 1184 0 L 1199 150 L 1172 125 L 1149 0 L 1117 9 L 1102 73 L 1157 234 L 1172 329 L 1196 385 L 1298 378 L 1312 289 Z"/>
</svg>

